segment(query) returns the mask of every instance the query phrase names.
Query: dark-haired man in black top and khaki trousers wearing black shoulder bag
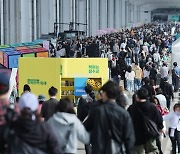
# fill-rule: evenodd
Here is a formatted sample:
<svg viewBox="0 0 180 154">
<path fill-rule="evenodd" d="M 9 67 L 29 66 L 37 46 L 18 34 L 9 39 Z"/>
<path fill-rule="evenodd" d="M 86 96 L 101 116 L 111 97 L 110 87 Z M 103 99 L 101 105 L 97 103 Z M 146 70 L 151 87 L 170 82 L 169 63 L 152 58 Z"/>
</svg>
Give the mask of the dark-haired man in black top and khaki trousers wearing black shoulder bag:
<svg viewBox="0 0 180 154">
<path fill-rule="evenodd" d="M 149 102 L 148 91 L 145 88 L 137 91 L 137 102 L 131 105 L 128 111 L 133 121 L 136 137 L 134 154 L 158 153 L 156 139 L 146 134 L 142 114 L 151 119 L 157 125 L 158 130 L 163 129 L 163 119 L 156 106 Z"/>
</svg>

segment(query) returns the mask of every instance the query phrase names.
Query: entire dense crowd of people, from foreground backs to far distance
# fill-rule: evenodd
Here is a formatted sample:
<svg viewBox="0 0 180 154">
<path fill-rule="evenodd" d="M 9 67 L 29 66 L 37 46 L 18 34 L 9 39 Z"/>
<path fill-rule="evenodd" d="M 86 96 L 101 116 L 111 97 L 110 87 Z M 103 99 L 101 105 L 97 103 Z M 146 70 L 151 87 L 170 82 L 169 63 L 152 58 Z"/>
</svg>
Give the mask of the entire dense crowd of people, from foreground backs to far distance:
<svg viewBox="0 0 180 154">
<path fill-rule="evenodd" d="M 175 40 L 172 26 L 179 30 L 179 25 L 148 24 L 59 43 L 57 57 L 108 58 L 111 80 L 98 96 L 86 85 L 77 112 L 70 99 L 56 99 L 56 87 L 49 88 L 47 100 L 24 85 L 12 106 L 9 78 L 0 74 L 0 154 L 75 154 L 78 141 L 85 144 L 86 154 L 162 154 L 166 134 L 172 153 L 176 147 L 180 153 L 180 104 L 171 111 L 180 68 L 174 62 L 170 70 L 166 62 Z"/>
</svg>

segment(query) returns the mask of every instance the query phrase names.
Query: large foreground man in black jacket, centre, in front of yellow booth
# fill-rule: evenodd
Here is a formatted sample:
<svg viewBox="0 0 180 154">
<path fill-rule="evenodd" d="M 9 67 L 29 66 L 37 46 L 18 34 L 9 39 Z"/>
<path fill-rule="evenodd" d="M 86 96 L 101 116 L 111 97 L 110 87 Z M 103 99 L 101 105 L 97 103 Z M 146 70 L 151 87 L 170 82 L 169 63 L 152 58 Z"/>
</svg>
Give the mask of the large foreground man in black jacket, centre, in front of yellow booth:
<svg viewBox="0 0 180 154">
<path fill-rule="evenodd" d="M 119 147 L 123 147 L 123 143 L 127 154 L 133 152 L 133 125 L 128 112 L 116 104 L 118 88 L 118 84 L 113 81 L 103 85 L 100 92 L 104 104 L 94 108 L 84 123 L 87 131 L 91 132 L 93 154 L 107 153 L 110 139 Z M 121 152 L 119 151 L 119 154 Z"/>
</svg>

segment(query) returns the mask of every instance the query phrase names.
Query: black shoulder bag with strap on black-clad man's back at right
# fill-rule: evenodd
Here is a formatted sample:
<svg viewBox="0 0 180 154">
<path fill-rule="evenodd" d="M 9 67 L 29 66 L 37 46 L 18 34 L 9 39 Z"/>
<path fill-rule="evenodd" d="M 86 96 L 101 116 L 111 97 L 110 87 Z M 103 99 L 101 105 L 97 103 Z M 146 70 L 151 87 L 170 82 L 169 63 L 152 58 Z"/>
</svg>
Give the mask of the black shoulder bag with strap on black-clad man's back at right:
<svg viewBox="0 0 180 154">
<path fill-rule="evenodd" d="M 137 109 L 139 110 L 139 112 L 141 113 L 141 115 L 143 117 L 145 135 L 148 138 L 156 139 L 160 135 L 156 123 L 154 121 L 152 121 L 149 117 L 144 115 L 144 113 L 141 111 L 141 109 L 139 109 L 138 106 L 137 106 Z"/>
</svg>

